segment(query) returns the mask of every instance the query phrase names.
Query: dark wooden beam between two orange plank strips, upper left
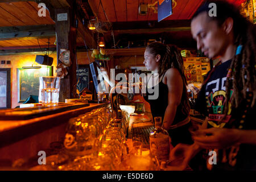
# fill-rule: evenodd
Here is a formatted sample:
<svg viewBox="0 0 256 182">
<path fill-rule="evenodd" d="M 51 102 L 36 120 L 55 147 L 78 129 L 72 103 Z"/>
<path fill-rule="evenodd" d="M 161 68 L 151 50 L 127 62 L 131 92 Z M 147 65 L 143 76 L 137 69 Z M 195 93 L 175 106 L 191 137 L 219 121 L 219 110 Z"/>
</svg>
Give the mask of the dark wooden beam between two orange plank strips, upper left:
<svg viewBox="0 0 256 182">
<path fill-rule="evenodd" d="M 55 25 L 0 27 L 0 40 L 46 38 L 55 36 Z"/>
</svg>

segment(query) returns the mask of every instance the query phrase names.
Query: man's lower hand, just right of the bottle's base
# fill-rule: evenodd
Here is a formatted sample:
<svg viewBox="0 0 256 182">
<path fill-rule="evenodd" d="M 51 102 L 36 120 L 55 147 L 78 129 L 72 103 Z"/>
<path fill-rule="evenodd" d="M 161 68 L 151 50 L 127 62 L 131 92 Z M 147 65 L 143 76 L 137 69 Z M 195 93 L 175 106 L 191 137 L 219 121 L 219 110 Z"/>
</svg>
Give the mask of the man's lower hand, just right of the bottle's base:
<svg viewBox="0 0 256 182">
<path fill-rule="evenodd" d="M 188 168 L 188 163 L 190 160 L 201 150 L 201 148 L 197 144 L 183 144 L 179 143 L 175 146 L 170 152 L 170 162 L 175 163 L 175 160 L 181 160 L 179 166 L 169 167 L 170 170 L 174 171 L 184 171 Z"/>
</svg>

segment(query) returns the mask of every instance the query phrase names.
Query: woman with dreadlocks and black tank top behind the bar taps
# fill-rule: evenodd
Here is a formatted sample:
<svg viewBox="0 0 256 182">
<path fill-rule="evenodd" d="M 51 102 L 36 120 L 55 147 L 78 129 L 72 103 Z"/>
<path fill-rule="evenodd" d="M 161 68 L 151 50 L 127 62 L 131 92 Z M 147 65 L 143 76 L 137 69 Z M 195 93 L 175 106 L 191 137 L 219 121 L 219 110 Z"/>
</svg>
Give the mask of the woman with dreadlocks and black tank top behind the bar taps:
<svg viewBox="0 0 256 182">
<path fill-rule="evenodd" d="M 191 143 L 187 81 L 183 59 L 176 46 L 165 46 L 158 42 L 149 44 L 144 52 L 143 64 L 153 73 L 147 80 L 147 93 L 144 96 L 150 104 L 153 118 L 162 117 L 163 128 L 168 131 L 172 146 Z M 158 93 L 148 92 L 151 88 Z M 158 97 L 150 99 L 149 96 L 153 94 Z"/>
</svg>

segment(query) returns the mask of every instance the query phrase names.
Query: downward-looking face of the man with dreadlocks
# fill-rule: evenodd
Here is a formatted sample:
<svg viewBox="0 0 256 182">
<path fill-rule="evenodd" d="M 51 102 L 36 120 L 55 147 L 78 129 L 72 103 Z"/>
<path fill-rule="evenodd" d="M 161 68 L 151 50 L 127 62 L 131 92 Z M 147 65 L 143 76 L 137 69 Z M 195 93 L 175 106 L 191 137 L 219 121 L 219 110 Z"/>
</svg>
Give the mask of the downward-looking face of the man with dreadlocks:
<svg viewBox="0 0 256 182">
<path fill-rule="evenodd" d="M 216 21 L 209 19 L 206 12 L 192 20 L 191 33 L 197 42 L 197 49 L 201 49 L 205 56 L 214 59 L 224 53 L 228 42 L 226 34 Z"/>
</svg>

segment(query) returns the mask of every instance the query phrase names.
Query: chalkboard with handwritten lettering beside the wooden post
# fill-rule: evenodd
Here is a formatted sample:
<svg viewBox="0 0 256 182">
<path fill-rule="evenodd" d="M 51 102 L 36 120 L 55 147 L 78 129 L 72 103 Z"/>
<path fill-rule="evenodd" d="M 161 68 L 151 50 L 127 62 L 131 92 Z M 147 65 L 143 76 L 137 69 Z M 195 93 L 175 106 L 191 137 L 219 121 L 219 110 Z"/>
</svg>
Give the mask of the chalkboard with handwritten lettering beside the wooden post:
<svg viewBox="0 0 256 182">
<path fill-rule="evenodd" d="M 89 66 L 88 65 L 79 65 L 79 68 L 76 69 L 76 85 L 77 90 L 81 92 L 84 88 L 89 86 Z"/>
</svg>

